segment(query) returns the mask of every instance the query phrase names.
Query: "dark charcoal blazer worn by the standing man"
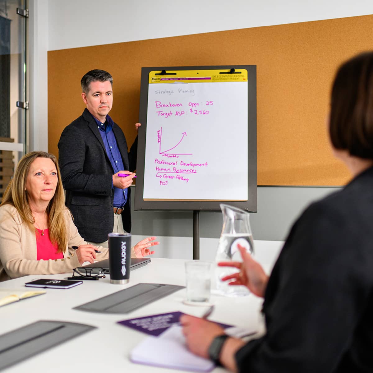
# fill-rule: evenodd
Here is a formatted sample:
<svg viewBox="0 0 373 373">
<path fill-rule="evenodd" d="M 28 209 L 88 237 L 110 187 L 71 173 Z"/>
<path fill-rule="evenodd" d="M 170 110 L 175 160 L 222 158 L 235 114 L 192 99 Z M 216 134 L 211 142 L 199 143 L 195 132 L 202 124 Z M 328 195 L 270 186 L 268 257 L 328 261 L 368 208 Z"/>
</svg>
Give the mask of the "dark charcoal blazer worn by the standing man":
<svg viewBox="0 0 373 373">
<path fill-rule="evenodd" d="M 128 153 L 122 129 L 114 123 L 113 132 L 122 155 L 124 170 L 136 169 L 137 138 Z M 70 123 L 58 142 L 59 166 L 66 206 L 71 210 L 80 235 L 87 241 L 104 242 L 113 231 L 113 182 L 115 173 L 106 154 L 100 130 L 91 113 Z M 122 212 L 123 228 L 131 232 L 131 188 Z"/>
</svg>

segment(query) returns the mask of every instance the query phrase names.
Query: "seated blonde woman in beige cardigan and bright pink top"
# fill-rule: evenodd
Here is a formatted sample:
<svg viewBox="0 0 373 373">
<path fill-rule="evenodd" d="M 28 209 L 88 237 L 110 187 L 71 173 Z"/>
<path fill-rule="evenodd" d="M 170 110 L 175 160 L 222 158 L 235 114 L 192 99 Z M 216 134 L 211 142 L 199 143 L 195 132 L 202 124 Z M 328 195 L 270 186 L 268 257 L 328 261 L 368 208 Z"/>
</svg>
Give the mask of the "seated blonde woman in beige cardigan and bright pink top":
<svg viewBox="0 0 373 373">
<path fill-rule="evenodd" d="M 0 281 L 71 272 L 86 261 L 108 257 L 107 248 L 87 244 L 79 235 L 65 206 L 57 159 L 43 151 L 19 161 L 0 205 L 0 225 Z M 138 242 L 131 257 L 154 254 L 155 239 Z"/>
</svg>

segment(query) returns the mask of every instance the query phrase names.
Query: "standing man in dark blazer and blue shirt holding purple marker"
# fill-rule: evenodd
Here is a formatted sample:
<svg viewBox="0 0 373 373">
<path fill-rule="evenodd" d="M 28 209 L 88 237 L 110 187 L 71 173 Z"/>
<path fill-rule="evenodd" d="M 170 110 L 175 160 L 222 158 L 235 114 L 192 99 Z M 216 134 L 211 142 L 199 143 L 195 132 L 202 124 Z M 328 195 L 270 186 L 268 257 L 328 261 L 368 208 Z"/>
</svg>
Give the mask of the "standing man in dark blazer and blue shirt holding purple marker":
<svg viewBox="0 0 373 373">
<path fill-rule="evenodd" d="M 122 130 L 108 115 L 113 105 L 113 77 L 108 72 L 88 71 L 81 86 L 87 109 L 63 130 L 59 165 L 66 206 L 80 235 L 107 246 L 108 233 L 131 232 L 129 186 L 135 176 L 137 137 L 128 152 Z M 135 126 L 138 130 L 140 123 Z"/>
</svg>

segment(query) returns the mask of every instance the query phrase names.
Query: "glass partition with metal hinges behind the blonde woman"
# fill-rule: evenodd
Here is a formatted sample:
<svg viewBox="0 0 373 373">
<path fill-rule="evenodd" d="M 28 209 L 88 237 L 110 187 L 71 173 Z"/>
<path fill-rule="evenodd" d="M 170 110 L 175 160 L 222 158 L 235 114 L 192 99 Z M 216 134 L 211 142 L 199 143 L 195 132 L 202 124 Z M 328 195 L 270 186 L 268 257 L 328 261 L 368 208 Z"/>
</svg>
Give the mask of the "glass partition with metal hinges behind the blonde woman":
<svg viewBox="0 0 373 373">
<path fill-rule="evenodd" d="M 24 0 L 0 0 L 0 200 L 26 148 Z"/>
</svg>

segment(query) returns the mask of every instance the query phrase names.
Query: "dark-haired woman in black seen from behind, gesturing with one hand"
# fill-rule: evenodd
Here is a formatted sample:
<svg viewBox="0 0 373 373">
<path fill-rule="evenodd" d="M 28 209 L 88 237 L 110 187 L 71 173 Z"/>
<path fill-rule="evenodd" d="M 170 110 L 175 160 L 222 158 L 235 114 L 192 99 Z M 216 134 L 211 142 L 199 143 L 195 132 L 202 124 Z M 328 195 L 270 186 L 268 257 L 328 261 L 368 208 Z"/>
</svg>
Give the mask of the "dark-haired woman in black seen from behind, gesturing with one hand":
<svg viewBox="0 0 373 373">
<path fill-rule="evenodd" d="M 242 263 L 220 263 L 239 270 L 232 286 L 264 298 L 266 333 L 246 343 L 185 315 L 196 354 L 238 372 L 373 372 L 373 52 L 338 69 L 328 122 L 352 180 L 304 211 L 269 277 L 242 248 Z"/>
</svg>

